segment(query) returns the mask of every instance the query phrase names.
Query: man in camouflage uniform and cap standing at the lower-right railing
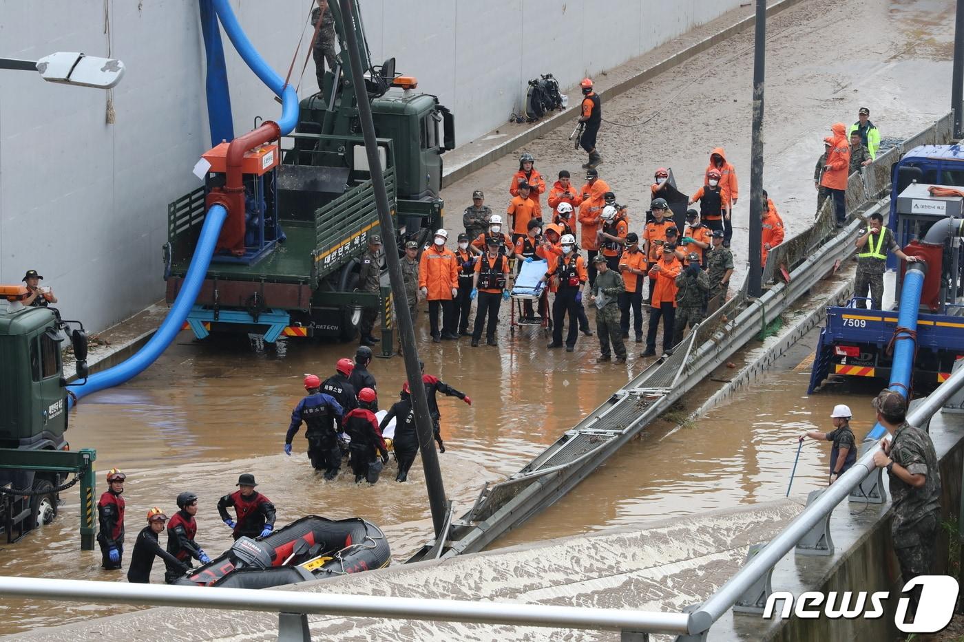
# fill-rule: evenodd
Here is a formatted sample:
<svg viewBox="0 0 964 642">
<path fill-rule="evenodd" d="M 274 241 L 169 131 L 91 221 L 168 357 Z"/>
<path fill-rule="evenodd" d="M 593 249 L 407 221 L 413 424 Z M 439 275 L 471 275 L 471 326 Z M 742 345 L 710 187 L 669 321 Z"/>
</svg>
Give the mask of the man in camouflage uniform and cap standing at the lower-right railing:
<svg viewBox="0 0 964 642">
<path fill-rule="evenodd" d="M 877 421 L 894 435 L 881 440 L 883 450 L 873 456 L 877 468 L 887 468 L 893 500 L 891 539 L 903 583 L 931 575 L 936 560 L 937 529 L 941 521 L 941 475 L 934 443 L 923 430 L 906 421 L 906 401 L 885 389 L 873 400 Z M 923 485 L 922 485 L 922 479 Z M 913 621 L 921 587 L 910 594 Z"/>
</svg>

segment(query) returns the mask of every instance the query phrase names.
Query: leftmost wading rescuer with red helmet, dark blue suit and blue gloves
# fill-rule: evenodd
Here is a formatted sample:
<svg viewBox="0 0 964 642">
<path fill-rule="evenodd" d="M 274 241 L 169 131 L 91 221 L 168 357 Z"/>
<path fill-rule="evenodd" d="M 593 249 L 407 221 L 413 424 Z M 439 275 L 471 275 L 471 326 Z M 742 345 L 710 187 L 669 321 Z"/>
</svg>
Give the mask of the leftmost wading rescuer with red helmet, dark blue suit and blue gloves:
<svg viewBox="0 0 964 642">
<path fill-rule="evenodd" d="M 337 434 L 345 415 L 335 397 L 322 392 L 321 380 L 315 375 L 305 376 L 308 396 L 298 402 L 291 413 L 291 424 L 284 435 L 284 454 L 291 456 L 291 441 L 304 421 L 305 439 L 308 440 L 308 459 L 315 470 L 324 470 L 325 479 L 335 479 L 341 468 L 341 448 Z"/>
</svg>

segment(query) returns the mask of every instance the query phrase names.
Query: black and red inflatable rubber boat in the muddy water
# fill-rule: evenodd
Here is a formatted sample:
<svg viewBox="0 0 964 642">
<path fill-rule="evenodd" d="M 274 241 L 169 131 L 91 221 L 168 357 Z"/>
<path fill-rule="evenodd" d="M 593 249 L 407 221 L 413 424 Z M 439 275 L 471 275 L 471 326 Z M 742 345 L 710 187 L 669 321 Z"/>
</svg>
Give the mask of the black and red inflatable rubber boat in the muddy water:
<svg viewBox="0 0 964 642">
<path fill-rule="evenodd" d="M 175 583 L 261 589 L 381 569 L 390 558 L 388 540 L 375 524 L 308 515 L 267 537 L 238 539 Z"/>
</svg>

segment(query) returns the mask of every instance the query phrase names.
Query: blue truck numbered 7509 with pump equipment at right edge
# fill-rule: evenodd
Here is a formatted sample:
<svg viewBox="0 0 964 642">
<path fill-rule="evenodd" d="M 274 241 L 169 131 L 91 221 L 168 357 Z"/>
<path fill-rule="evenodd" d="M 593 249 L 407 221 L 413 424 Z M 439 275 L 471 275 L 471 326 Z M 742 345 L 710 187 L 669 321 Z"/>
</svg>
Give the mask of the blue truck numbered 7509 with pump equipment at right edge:
<svg viewBox="0 0 964 642">
<path fill-rule="evenodd" d="M 927 263 L 917 328 L 913 386 L 929 389 L 951 376 L 954 361 L 964 358 L 964 287 L 959 226 L 935 227 L 938 221 L 964 217 L 964 198 L 941 196 L 964 186 L 964 149 L 958 145 L 921 146 L 906 152 L 891 169 L 890 217 L 887 227 L 904 253 Z M 935 194 L 935 191 L 937 194 Z M 931 228 L 934 228 L 933 230 Z M 948 227 L 947 233 L 944 227 Z M 899 301 L 903 265 L 894 254 L 888 269 L 898 268 L 894 301 Z M 891 378 L 897 311 L 858 308 L 857 297 L 846 306 L 827 308 L 808 394 L 831 375 Z M 870 304 L 868 304 L 869 306 Z"/>
</svg>

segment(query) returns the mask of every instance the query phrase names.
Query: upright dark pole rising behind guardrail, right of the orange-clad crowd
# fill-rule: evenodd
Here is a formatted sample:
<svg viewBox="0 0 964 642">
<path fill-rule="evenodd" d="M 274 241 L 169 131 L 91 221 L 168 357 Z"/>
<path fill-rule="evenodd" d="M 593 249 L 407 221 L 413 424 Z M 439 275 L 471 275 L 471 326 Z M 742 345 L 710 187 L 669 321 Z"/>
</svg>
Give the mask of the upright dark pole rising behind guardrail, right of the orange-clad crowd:
<svg viewBox="0 0 964 642">
<path fill-rule="evenodd" d="M 757 0 L 757 31 L 753 52 L 753 139 L 750 145 L 750 275 L 747 294 L 763 294 L 760 235 L 763 231 L 763 76 L 766 49 L 766 0 Z M 733 221 L 730 221 L 733 225 Z"/>
</svg>

